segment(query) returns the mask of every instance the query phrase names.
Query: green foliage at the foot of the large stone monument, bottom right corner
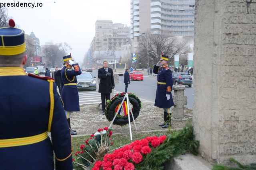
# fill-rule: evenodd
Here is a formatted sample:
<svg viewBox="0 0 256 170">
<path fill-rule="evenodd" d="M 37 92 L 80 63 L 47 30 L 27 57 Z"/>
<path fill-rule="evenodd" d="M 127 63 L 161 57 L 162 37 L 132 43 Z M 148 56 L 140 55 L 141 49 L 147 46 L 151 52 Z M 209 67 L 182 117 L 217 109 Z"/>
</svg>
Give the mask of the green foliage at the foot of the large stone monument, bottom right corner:
<svg viewBox="0 0 256 170">
<path fill-rule="evenodd" d="M 256 163 L 250 165 L 243 165 L 234 158 L 230 158 L 230 162 L 234 162 L 238 167 L 229 167 L 216 164 L 213 166 L 212 170 L 256 170 Z"/>
</svg>

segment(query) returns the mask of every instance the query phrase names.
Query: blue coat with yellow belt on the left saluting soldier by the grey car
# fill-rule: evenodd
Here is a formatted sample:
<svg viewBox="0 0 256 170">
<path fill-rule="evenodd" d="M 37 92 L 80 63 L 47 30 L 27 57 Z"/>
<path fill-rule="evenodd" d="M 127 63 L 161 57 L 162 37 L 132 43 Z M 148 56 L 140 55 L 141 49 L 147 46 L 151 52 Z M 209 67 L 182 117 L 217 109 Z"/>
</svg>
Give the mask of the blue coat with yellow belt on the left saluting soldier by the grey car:
<svg viewBox="0 0 256 170">
<path fill-rule="evenodd" d="M 64 86 L 61 89 L 61 98 L 66 111 L 80 111 L 76 76 L 82 74 L 82 71 L 78 64 L 72 66 L 74 69 L 66 64 L 62 68 L 61 79 Z"/>
</svg>

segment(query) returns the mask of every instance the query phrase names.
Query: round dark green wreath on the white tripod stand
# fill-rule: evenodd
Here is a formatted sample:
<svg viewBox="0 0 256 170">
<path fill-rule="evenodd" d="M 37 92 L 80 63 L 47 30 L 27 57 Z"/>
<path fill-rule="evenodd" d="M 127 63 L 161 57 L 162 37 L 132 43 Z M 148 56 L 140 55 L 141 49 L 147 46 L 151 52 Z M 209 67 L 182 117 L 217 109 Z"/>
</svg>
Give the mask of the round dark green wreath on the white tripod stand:
<svg viewBox="0 0 256 170">
<path fill-rule="evenodd" d="M 116 107 L 121 104 L 126 93 L 118 93 L 110 100 L 107 100 L 105 115 L 108 121 L 112 121 L 116 114 Z M 141 109 L 141 101 L 134 93 L 128 93 L 130 104 L 132 105 L 132 113 L 134 120 L 138 117 Z M 132 115 L 130 112 L 130 121 L 132 122 Z M 117 115 L 113 124 L 115 125 L 126 125 L 128 124 L 128 115 Z"/>
</svg>

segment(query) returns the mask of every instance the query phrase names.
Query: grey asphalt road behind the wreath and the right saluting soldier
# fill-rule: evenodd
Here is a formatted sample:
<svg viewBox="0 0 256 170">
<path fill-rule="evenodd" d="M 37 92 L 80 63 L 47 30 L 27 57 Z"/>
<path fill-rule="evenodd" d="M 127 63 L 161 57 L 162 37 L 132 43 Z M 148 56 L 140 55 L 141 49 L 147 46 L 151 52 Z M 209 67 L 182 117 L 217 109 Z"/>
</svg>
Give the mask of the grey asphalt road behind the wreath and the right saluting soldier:
<svg viewBox="0 0 256 170">
<path fill-rule="evenodd" d="M 94 76 L 98 76 L 98 70 L 93 70 L 92 74 Z M 97 78 L 96 78 L 97 79 Z M 156 77 L 144 75 L 144 80 L 135 80 L 130 81 L 131 83 L 128 86 L 128 92 L 135 93 L 139 98 L 148 100 L 150 102 L 155 102 L 156 98 Z M 119 92 L 124 92 L 125 84 L 124 84 L 124 76 L 119 76 L 119 84 L 115 85 L 115 90 Z M 172 91 L 172 95 L 174 95 L 174 91 Z M 189 109 L 193 109 L 194 103 L 194 86 L 188 87 L 184 90 L 184 95 L 188 96 L 188 104 L 185 107 Z"/>
</svg>

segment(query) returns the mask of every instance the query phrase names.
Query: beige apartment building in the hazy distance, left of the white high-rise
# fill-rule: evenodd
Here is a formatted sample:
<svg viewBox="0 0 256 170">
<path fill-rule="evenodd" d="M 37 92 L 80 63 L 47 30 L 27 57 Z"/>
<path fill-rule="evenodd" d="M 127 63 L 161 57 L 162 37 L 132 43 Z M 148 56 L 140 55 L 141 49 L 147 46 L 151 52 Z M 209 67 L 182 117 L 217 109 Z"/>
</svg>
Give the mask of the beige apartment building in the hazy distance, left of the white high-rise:
<svg viewBox="0 0 256 170">
<path fill-rule="evenodd" d="M 88 58 L 99 66 L 104 60 L 118 62 L 122 58 L 122 45 L 126 44 L 130 44 L 130 27 L 112 20 L 97 20 Z"/>
</svg>

